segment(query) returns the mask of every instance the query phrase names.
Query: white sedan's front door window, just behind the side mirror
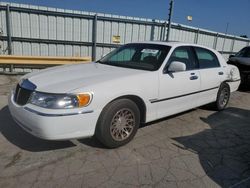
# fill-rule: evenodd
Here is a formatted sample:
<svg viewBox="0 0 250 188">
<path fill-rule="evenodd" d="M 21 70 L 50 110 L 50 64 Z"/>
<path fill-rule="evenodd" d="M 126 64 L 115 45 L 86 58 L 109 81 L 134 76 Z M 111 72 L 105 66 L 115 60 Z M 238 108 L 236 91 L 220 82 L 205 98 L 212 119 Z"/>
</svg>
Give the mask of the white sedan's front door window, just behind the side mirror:
<svg viewBox="0 0 250 188">
<path fill-rule="evenodd" d="M 193 70 L 197 68 L 195 59 L 193 57 L 193 52 L 188 46 L 177 47 L 171 54 L 168 65 L 173 61 L 185 63 L 186 70 Z"/>
</svg>

